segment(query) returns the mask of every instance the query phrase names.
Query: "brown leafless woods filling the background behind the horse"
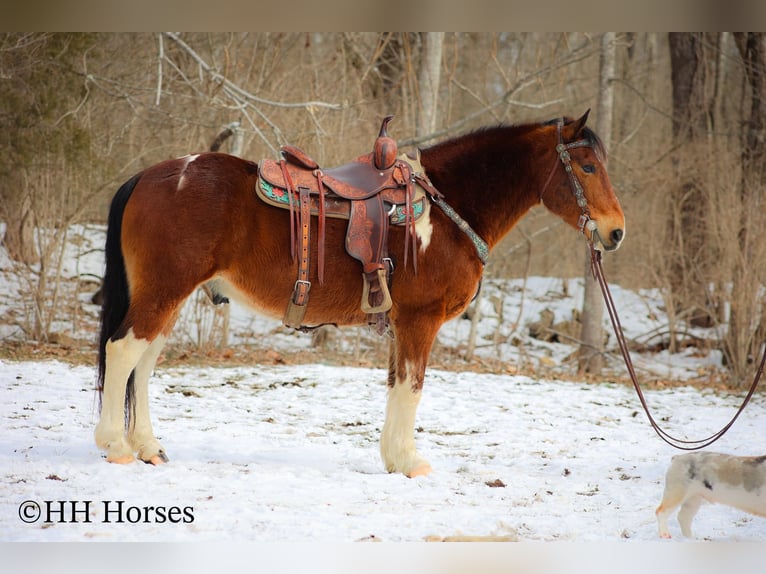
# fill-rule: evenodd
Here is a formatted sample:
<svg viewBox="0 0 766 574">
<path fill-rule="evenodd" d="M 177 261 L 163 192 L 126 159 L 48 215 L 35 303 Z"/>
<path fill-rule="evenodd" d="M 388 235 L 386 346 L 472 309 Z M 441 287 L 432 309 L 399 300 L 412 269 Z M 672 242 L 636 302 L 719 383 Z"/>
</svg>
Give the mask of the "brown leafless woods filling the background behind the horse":
<svg viewBox="0 0 766 574">
<path fill-rule="evenodd" d="M 0 102 L 0 232 L 29 286 L 2 320 L 29 341 L 50 335 L 70 226 L 103 224 L 123 181 L 227 127 L 221 151 L 290 143 L 333 165 L 387 114 L 406 150 L 588 108 L 627 220 L 608 278 L 663 290 L 671 348 L 719 327 L 735 384 L 766 338 L 762 33 L 4 33 Z M 583 245 L 533 210 L 487 275 L 580 277 Z"/>
</svg>

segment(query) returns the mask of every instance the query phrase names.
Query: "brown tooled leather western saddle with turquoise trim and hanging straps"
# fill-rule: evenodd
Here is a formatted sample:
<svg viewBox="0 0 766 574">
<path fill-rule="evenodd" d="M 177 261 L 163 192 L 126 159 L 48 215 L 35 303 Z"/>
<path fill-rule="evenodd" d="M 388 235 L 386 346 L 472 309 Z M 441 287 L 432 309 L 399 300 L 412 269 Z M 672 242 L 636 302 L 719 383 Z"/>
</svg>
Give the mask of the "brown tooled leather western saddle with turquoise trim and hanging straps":
<svg viewBox="0 0 766 574">
<path fill-rule="evenodd" d="M 290 210 L 293 259 L 298 259 L 298 278 L 283 323 L 306 330 L 303 317 L 311 281 L 311 225 L 317 220 L 317 277 L 324 282 L 325 218 L 348 220 L 346 251 L 362 266 L 361 309 L 379 333 L 388 328 L 391 308 L 389 282 L 394 262 L 388 254 L 389 225 L 404 226 L 404 265 L 412 251 L 417 272 L 415 222 L 439 192 L 430 184 L 417 160 L 397 157 L 396 142 L 388 136 L 393 116 L 383 119 L 371 153 L 339 167 L 323 169 L 302 150 L 283 146 L 281 159 L 259 164 L 258 196 L 266 203 Z M 417 185 L 416 185 L 417 184 Z"/>
</svg>

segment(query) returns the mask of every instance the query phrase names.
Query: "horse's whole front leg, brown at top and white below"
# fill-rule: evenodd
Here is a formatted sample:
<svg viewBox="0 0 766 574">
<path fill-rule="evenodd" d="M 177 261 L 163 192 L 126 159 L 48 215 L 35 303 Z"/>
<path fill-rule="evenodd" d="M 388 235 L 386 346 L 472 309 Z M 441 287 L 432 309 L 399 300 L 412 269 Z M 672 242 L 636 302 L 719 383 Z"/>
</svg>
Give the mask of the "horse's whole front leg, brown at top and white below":
<svg viewBox="0 0 766 574">
<path fill-rule="evenodd" d="M 415 413 L 438 330 L 438 323 L 431 326 L 425 321 L 408 324 L 399 321 L 394 325 L 386 421 L 380 437 L 380 454 L 388 472 L 401 472 L 409 477 L 431 472 L 431 465 L 415 448 Z"/>
</svg>

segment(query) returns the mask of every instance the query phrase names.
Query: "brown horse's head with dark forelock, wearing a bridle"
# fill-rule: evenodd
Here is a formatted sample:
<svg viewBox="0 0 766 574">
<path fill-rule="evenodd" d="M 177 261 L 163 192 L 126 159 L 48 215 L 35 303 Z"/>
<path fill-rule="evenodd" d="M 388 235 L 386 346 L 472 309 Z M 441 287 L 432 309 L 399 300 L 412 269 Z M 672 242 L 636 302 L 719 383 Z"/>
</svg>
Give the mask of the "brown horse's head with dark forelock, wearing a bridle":
<svg viewBox="0 0 766 574">
<path fill-rule="evenodd" d="M 577 120 L 564 118 L 545 125 L 551 171 L 540 200 L 597 248 L 600 244 L 613 251 L 625 237 L 625 216 L 609 182 L 604 146 L 585 127 L 589 112 Z"/>
</svg>

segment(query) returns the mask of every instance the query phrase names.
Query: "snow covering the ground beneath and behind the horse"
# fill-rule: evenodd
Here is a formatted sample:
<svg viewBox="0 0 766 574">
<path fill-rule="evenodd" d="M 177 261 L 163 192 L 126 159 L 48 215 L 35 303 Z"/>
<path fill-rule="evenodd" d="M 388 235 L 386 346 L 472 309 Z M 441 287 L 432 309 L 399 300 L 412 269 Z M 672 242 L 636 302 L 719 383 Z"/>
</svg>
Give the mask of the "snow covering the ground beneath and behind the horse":
<svg viewBox="0 0 766 574">
<path fill-rule="evenodd" d="M 100 273 L 92 236 L 103 230 L 80 231 L 84 239 L 68 246 L 66 277 Z M 3 257 L 0 250 L 5 315 L 23 298 L 23 282 Z M 575 348 L 527 332 L 545 308 L 557 321 L 571 316 L 581 281 L 487 280 L 484 288 L 475 352 L 493 372 L 459 362 L 428 370 L 416 442 L 434 471 L 415 479 L 386 473 L 380 460 L 384 364 L 337 366 L 317 356 L 311 364 L 160 365 L 150 405 L 171 460 L 153 467 L 103 461 L 93 442 L 94 366 L 0 360 L 0 540 L 656 541 L 654 509 L 678 451 L 654 435 L 633 389 L 615 382 L 624 375 L 616 357 L 601 382 L 577 382 Z M 628 338 L 663 327 L 658 292 L 612 289 Z M 97 308 L 80 302 L 82 316 L 76 324 L 61 320 L 62 329 L 92 338 Z M 193 313 L 187 309 L 177 329 L 191 339 Z M 312 349 L 309 335 L 279 321 L 237 308 L 231 321 L 232 345 L 267 337 L 276 351 Z M 437 347 L 459 355 L 469 329 L 463 318 L 446 324 Z M 0 340 L 16 336 L 18 327 L 0 326 Z M 350 355 L 379 344 L 355 330 L 336 337 Z M 642 378 L 688 382 L 645 391 L 672 434 L 708 436 L 742 400 L 698 384 L 720 368 L 714 352 L 634 359 Z M 715 449 L 762 454 L 765 415 L 759 393 Z M 39 505 L 39 519 L 22 520 L 35 508 L 25 501 Z M 693 530 L 697 540 L 766 538 L 763 518 L 720 505 L 703 507 Z M 683 540 L 675 520 L 671 532 Z"/>
</svg>

